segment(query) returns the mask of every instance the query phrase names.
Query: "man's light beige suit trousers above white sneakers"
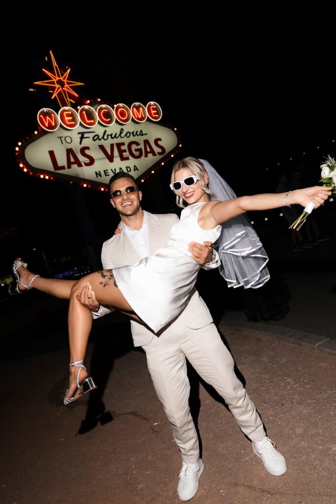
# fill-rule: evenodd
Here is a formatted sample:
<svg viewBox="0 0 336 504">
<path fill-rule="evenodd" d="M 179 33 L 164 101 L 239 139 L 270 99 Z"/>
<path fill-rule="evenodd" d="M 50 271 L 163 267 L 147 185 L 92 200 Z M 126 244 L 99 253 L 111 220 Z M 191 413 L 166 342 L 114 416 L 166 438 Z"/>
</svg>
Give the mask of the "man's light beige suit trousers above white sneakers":
<svg viewBox="0 0 336 504">
<path fill-rule="evenodd" d="M 199 459 L 198 437 L 189 409 L 186 358 L 225 400 L 246 436 L 257 443 L 266 434 L 253 402 L 234 372 L 234 361 L 215 324 L 190 329 L 178 319 L 142 347 L 158 398 L 173 428 L 185 463 Z"/>
</svg>

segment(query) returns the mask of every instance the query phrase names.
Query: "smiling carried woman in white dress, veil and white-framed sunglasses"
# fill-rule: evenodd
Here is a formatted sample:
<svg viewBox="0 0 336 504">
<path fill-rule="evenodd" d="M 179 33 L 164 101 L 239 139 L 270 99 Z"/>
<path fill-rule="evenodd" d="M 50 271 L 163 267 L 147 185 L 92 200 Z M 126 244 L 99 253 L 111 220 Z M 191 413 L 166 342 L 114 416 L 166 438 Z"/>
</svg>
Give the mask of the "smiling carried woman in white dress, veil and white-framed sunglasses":
<svg viewBox="0 0 336 504">
<path fill-rule="evenodd" d="M 79 292 L 84 290 L 84 295 L 90 297 L 94 291 L 100 304 L 127 313 L 157 333 L 182 311 L 196 282 L 200 266 L 190 257 L 190 241 L 219 240 L 220 271 L 228 285 L 258 288 L 270 278 L 265 267 L 268 258 L 244 214 L 291 204 L 305 207 L 309 202 L 318 208 L 331 195 L 329 187 L 313 186 L 237 198 L 207 161 L 194 157 L 175 163 L 170 187 L 183 210 L 167 245 L 136 265 L 100 270 L 72 286 L 68 318 L 70 378 L 65 404 L 96 388 L 83 364 L 92 313 L 78 299 Z"/>
</svg>

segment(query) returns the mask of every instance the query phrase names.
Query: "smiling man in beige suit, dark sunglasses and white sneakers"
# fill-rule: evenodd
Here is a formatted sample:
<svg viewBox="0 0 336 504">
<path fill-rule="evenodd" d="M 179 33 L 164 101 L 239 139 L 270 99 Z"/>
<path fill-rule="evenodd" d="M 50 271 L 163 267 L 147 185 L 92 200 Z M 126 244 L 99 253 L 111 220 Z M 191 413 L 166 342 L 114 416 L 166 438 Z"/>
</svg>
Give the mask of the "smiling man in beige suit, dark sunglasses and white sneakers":
<svg viewBox="0 0 336 504">
<path fill-rule="evenodd" d="M 120 215 L 120 232 L 104 242 L 101 260 L 104 269 L 136 264 L 165 246 L 177 215 L 154 215 L 141 208 L 142 193 L 136 180 L 119 172 L 109 181 L 111 204 Z M 211 244 L 208 242 L 208 245 Z M 191 254 L 201 264 L 206 259 L 206 248 L 190 246 Z M 213 253 L 213 263 L 205 269 L 217 267 L 219 260 Z M 112 259 L 113 258 L 113 259 Z M 203 259 L 202 259 L 203 258 Z M 84 289 L 78 299 L 98 318 L 110 310 L 100 306 L 94 293 Z M 197 373 L 226 401 L 241 430 L 252 442 L 253 452 L 262 460 L 266 470 L 281 476 L 287 470 L 284 457 L 268 439 L 259 414 L 249 395 L 234 373 L 233 358 L 223 344 L 211 313 L 193 289 L 187 306 L 170 324 L 155 334 L 147 326 L 131 320 L 135 346 L 141 346 L 158 398 L 173 429 L 174 440 L 182 456 L 177 492 L 182 501 L 191 499 L 198 488 L 204 465 L 199 458 L 198 437 L 188 399 L 190 385 L 186 359 Z"/>
</svg>

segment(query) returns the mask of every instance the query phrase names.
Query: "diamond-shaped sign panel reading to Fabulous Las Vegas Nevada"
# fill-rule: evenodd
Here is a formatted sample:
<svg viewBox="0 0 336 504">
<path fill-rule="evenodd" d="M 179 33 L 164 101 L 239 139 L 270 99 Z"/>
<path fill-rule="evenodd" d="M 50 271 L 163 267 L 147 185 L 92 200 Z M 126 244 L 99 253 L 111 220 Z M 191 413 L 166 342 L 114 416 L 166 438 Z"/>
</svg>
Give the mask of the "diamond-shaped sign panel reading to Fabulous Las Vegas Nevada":
<svg viewBox="0 0 336 504">
<path fill-rule="evenodd" d="M 175 152 L 177 145 L 173 129 L 150 120 L 115 122 L 108 127 L 97 123 L 91 129 L 60 126 L 25 142 L 18 159 L 35 173 L 107 187 L 110 177 L 119 171 L 140 179 Z"/>
</svg>

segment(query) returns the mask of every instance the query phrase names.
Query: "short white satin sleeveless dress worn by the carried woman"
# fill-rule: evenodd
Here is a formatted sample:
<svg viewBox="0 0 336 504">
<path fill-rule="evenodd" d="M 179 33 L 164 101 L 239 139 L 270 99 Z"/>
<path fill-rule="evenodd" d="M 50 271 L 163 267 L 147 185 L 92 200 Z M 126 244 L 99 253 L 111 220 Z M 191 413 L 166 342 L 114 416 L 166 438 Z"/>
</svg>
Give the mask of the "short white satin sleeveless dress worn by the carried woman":
<svg viewBox="0 0 336 504">
<path fill-rule="evenodd" d="M 198 214 L 205 203 L 184 208 L 171 228 L 164 248 L 132 266 L 113 268 L 118 288 L 135 311 L 155 333 L 171 322 L 187 304 L 195 285 L 199 264 L 190 257 L 190 241 L 214 243 L 222 226 L 202 229 Z"/>
</svg>

